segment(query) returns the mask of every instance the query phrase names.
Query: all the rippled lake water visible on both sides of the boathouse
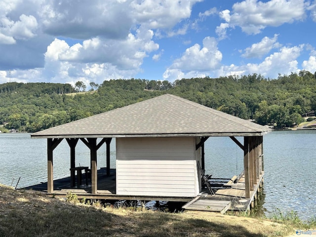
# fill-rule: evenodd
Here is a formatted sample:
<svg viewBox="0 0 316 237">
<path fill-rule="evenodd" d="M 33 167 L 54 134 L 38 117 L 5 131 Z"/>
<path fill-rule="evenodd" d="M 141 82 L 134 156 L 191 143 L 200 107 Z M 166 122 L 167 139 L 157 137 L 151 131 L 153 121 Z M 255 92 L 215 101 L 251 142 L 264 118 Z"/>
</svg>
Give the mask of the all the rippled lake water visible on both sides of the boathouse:
<svg viewBox="0 0 316 237">
<path fill-rule="evenodd" d="M 241 138 L 240 138 L 241 139 Z M 273 131 L 264 136 L 265 182 L 262 210 L 294 210 L 302 219 L 316 216 L 316 130 Z M 240 140 L 243 143 L 242 140 Z M 47 139 L 26 133 L 0 133 L 0 183 L 17 188 L 47 181 Z M 69 176 L 70 149 L 65 140 L 54 150 L 54 179 Z M 90 152 L 79 141 L 76 166 L 89 166 Z M 105 144 L 98 150 L 98 167 L 106 166 Z M 115 168 L 115 140 L 111 143 Z M 205 142 L 205 173 L 231 178 L 243 170 L 243 152 L 228 137 Z"/>
</svg>

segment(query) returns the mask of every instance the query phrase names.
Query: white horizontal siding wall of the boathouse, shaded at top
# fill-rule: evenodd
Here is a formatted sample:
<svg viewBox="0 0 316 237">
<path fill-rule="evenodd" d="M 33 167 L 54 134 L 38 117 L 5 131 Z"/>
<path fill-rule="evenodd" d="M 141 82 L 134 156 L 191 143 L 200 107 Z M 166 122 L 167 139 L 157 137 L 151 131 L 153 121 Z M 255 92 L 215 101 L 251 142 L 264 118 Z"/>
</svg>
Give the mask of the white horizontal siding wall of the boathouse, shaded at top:
<svg viewBox="0 0 316 237">
<path fill-rule="evenodd" d="M 117 194 L 196 197 L 195 138 L 117 138 Z"/>
</svg>

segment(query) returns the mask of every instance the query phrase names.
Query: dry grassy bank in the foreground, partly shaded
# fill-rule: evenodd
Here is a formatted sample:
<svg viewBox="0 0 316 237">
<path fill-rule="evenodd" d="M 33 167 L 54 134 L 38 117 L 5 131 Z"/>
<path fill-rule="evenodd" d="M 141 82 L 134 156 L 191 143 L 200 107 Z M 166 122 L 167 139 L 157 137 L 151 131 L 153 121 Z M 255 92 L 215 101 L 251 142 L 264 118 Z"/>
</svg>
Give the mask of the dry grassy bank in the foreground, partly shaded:
<svg viewBox="0 0 316 237">
<path fill-rule="evenodd" d="M 74 203 L 73 196 L 69 199 L 73 201 L 0 185 L 0 236 L 269 237 L 294 234 L 299 228 L 277 217 L 272 221 L 211 212 L 165 213 L 103 207 L 98 202 Z"/>
</svg>

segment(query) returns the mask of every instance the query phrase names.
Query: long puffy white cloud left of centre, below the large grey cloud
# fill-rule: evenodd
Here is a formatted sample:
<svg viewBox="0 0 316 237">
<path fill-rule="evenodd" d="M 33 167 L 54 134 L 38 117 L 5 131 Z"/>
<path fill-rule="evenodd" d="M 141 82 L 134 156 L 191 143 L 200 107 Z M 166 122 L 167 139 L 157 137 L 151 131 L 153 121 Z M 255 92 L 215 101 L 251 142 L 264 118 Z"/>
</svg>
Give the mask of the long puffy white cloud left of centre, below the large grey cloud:
<svg viewBox="0 0 316 237">
<path fill-rule="evenodd" d="M 138 70 L 147 53 L 158 50 L 153 32 L 138 29 L 124 40 L 94 38 L 75 44 L 59 54 L 61 61 L 78 63 L 110 63 L 119 70 Z"/>
</svg>

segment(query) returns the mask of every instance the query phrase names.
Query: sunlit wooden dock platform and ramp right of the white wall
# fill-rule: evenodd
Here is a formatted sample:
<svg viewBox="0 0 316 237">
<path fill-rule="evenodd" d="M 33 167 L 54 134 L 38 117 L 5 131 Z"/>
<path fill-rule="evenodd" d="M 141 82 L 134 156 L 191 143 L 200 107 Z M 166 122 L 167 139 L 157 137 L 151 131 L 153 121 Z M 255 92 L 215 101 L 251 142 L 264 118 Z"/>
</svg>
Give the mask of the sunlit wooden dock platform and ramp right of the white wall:
<svg viewBox="0 0 316 237">
<path fill-rule="evenodd" d="M 185 210 L 213 211 L 225 213 L 226 211 L 248 211 L 254 207 L 254 200 L 262 187 L 264 172 L 257 179 L 250 198 L 245 197 L 244 178 L 241 177 L 237 183 L 224 185 L 225 189 L 219 189 L 215 195 L 204 194 L 186 203 L 182 208 Z"/>
</svg>

